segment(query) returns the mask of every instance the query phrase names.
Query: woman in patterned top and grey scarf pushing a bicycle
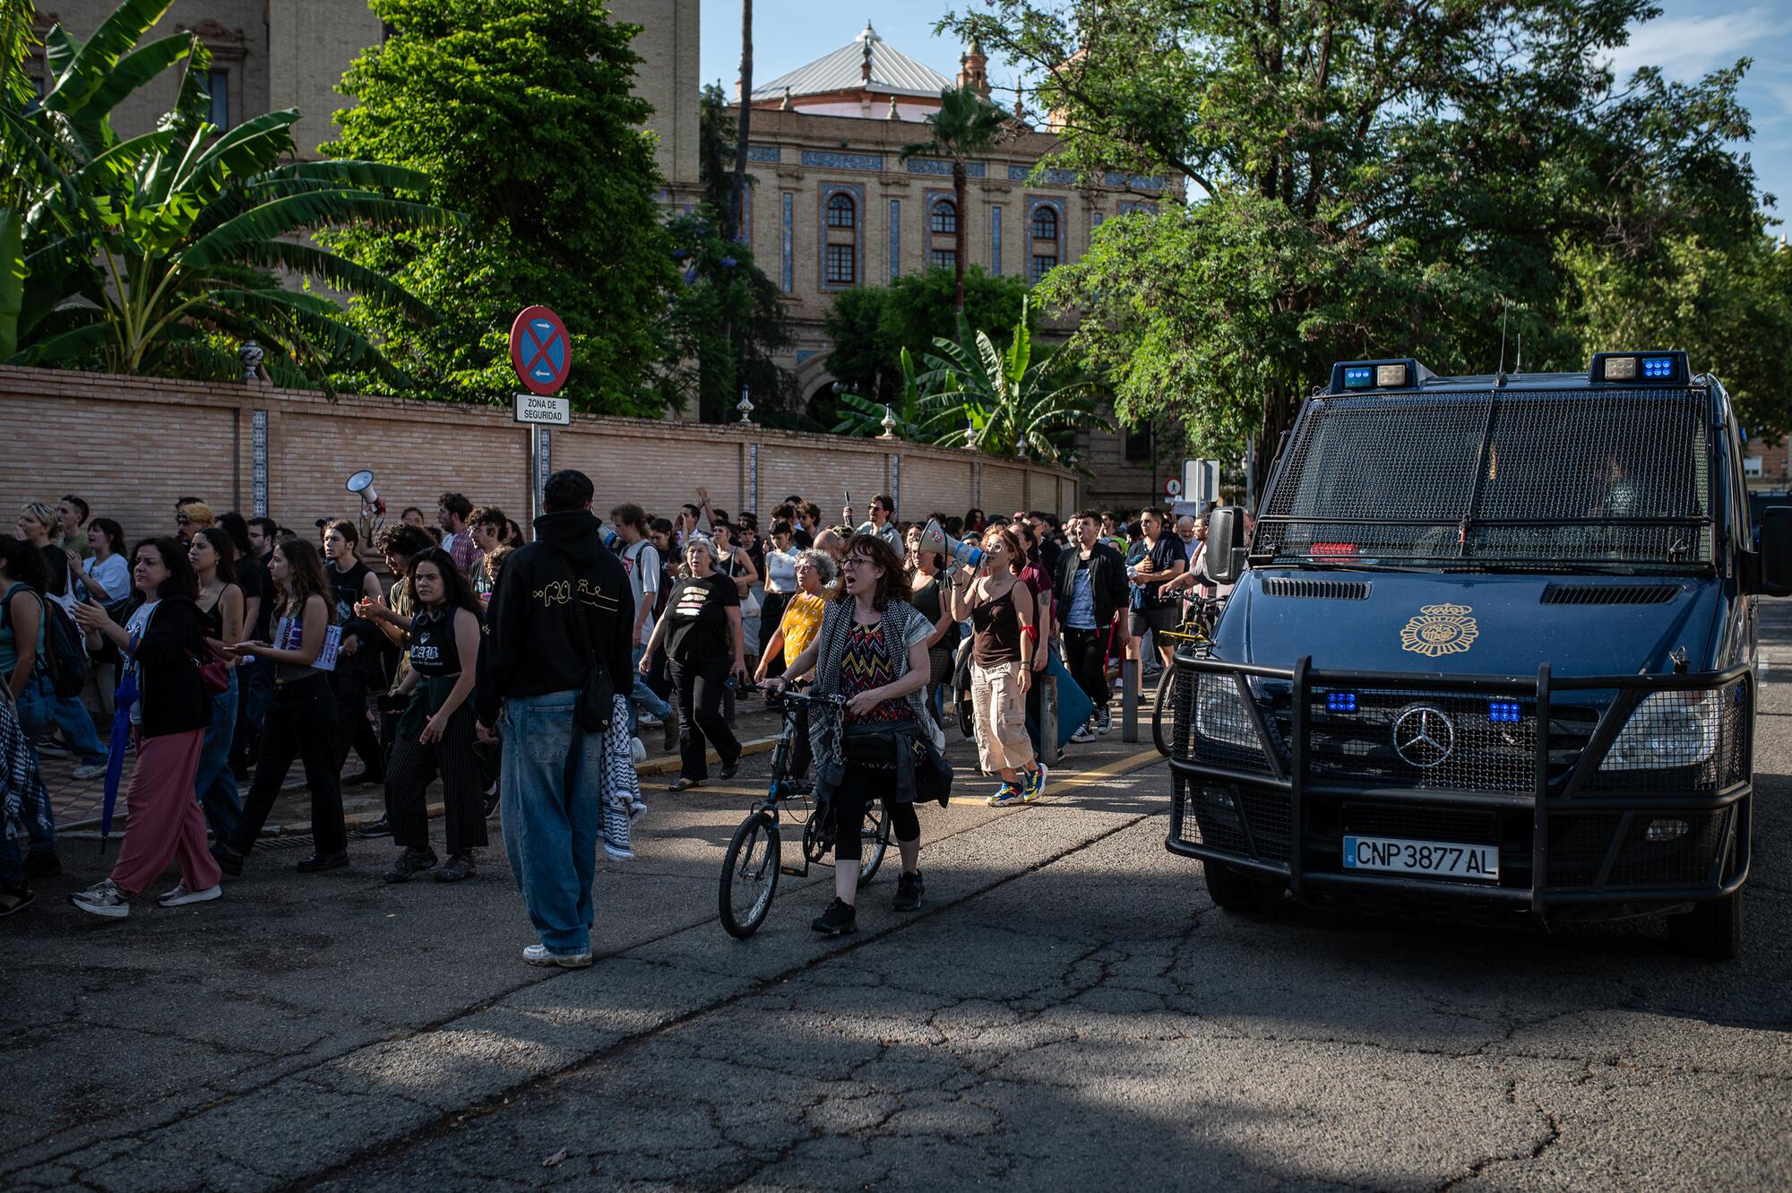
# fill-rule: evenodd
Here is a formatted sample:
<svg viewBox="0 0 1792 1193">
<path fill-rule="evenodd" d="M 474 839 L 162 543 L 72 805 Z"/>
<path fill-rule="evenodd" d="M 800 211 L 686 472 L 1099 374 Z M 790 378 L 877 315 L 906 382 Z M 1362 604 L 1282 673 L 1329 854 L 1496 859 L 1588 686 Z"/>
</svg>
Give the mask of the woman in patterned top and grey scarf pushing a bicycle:
<svg viewBox="0 0 1792 1193">
<path fill-rule="evenodd" d="M 855 534 L 840 561 L 840 593 L 828 602 L 815 641 L 790 663 L 787 675 L 815 670 L 812 691 L 844 697 L 844 713 L 817 706 L 810 724 L 815 751 L 815 799 L 833 808 L 833 903 L 814 924 L 837 937 L 858 931 L 860 826 L 866 806 L 883 801 L 901 853 L 898 912 L 921 906 L 921 822 L 914 815 L 912 740 L 926 734 L 944 749 L 944 734 L 926 715 L 926 643 L 934 623 L 909 604 L 901 557 L 874 534 Z M 772 693 L 785 677 L 767 681 Z"/>
</svg>

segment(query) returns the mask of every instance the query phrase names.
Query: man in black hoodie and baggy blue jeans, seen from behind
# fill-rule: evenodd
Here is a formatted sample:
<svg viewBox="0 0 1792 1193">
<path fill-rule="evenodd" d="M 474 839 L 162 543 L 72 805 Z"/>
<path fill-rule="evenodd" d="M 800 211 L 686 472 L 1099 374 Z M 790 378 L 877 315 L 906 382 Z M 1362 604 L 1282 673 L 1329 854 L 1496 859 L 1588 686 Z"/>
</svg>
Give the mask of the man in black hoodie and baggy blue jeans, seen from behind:
<svg viewBox="0 0 1792 1193">
<path fill-rule="evenodd" d="M 541 937 L 523 960 L 581 969 L 591 964 L 604 734 L 579 733 L 573 706 L 593 666 L 615 691 L 633 688 L 634 593 L 591 516 L 590 476 L 554 473 L 541 505 L 536 541 L 505 561 L 486 609 L 473 711 L 491 742 L 502 706 L 509 738 L 504 847 Z"/>
</svg>

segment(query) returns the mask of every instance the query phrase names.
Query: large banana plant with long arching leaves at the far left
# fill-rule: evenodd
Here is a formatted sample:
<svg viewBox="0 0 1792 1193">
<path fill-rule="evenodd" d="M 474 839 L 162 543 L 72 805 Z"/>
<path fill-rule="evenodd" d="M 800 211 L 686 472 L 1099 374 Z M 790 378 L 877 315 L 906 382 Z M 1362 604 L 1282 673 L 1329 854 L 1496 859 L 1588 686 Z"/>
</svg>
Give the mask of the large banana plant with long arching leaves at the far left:
<svg viewBox="0 0 1792 1193">
<path fill-rule="evenodd" d="M 369 161 L 281 165 L 297 111 L 256 116 L 229 133 L 206 122 L 204 47 L 177 34 L 136 47 L 167 2 L 129 0 L 88 41 L 56 27 L 45 39 L 45 97 L 0 97 L 0 122 L 23 168 L 14 287 L 0 288 L 14 364 L 97 364 L 113 373 L 228 378 L 235 349 L 256 340 L 269 374 L 324 385 L 346 371 L 409 378 L 342 310 L 281 287 L 271 270 L 315 278 L 426 324 L 425 303 L 375 270 L 294 236 L 340 222 L 450 227 L 437 208 L 394 199 L 426 179 Z M 118 140 L 111 109 L 170 64 L 177 100 L 156 131 Z M 4 229 L 0 229 L 4 231 Z M 9 236 L 7 236 L 9 240 Z M 16 310 L 16 319 L 11 312 Z"/>
</svg>

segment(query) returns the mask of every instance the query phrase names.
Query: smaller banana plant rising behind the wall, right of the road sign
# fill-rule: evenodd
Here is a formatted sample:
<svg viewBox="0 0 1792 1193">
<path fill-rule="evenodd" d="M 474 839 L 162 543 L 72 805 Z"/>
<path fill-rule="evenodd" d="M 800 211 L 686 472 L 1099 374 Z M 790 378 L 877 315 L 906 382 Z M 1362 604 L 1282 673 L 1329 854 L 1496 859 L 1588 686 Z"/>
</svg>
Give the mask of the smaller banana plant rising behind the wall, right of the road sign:
<svg viewBox="0 0 1792 1193">
<path fill-rule="evenodd" d="M 1097 385 L 1064 353 L 1039 353 L 1034 360 L 1030 305 L 1029 294 L 1007 351 L 998 351 L 984 331 L 971 337 L 962 315 L 961 342 L 934 340 L 941 355 L 926 356 L 932 371 L 921 376 L 923 385 L 941 385 L 921 403 L 934 442 L 1063 464 L 1072 435 L 1111 426 L 1097 410 Z"/>
</svg>

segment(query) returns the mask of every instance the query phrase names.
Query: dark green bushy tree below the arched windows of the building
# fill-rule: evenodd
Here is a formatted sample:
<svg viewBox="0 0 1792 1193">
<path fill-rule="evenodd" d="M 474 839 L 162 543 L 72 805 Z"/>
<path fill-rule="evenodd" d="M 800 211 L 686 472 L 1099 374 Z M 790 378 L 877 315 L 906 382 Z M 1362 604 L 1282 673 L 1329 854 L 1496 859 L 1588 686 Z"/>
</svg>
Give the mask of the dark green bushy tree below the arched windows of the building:
<svg viewBox="0 0 1792 1193">
<path fill-rule="evenodd" d="M 857 389 L 880 403 L 900 398 L 896 358 L 907 351 L 921 358 L 937 339 L 953 339 L 959 331 L 952 294 L 959 279 L 953 270 L 935 267 L 919 274 L 905 274 L 887 287 L 855 287 L 835 296 L 823 317 L 823 326 L 833 348 L 828 351 L 828 373 L 846 389 Z M 971 265 L 964 270 L 962 315 L 971 330 L 1005 333 L 1027 312 L 1036 321 L 1038 308 L 1027 306 L 1027 283 L 1020 278 L 1002 278 Z M 1032 326 L 1032 324 L 1029 324 Z M 823 423 L 831 425 L 835 412 L 823 412 Z"/>
</svg>

